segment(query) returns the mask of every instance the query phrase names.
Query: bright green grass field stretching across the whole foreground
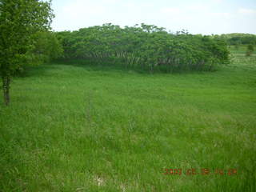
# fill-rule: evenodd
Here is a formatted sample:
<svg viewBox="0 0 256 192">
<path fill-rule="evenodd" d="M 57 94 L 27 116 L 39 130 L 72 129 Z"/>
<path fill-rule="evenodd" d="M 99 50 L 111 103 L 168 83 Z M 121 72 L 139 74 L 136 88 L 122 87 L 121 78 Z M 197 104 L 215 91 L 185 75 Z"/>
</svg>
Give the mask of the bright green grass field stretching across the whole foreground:
<svg viewBox="0 0 256 192">
<path fill-rule="evenodd" d="M 232 55 L 215 72 L 30 68 L 0 106 L 0 191 L 256 191 L 256 55 Z"/>
</svg>

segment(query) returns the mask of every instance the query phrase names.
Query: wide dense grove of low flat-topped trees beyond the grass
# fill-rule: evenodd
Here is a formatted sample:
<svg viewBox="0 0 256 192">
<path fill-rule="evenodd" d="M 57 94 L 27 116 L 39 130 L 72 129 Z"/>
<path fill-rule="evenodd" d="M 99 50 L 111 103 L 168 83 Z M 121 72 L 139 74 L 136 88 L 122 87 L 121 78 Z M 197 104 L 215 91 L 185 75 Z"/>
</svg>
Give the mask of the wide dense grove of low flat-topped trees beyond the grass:
<svg viewBox="0 0 256 192">
<path fill-rule="evenodd" d="M 222 38 L 170 34 L 157 26 L 92 26 L 78 31 L 57 33 L 64 57 L 84 59 L 91 64 L 115 63 L 143 70 L 213 70 L 229 62 L 229 51 Z"/>
</svg>

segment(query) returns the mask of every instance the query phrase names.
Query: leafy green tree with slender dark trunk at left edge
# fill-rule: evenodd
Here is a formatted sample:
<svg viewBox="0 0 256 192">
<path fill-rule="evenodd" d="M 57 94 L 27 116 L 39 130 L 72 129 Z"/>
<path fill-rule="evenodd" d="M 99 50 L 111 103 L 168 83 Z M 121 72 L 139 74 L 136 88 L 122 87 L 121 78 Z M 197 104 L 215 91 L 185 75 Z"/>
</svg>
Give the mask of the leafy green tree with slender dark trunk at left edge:
<svg viewBox="0 0 256 192">
<path fill-rule="evenodd" d="M 0 0 L 0 76 L 6 106 L 10 103 L 10 79 L 15 71 L 33 63 L 34 34 L 50 29 L 54 14 L 51 1 Z"/>
</svg>

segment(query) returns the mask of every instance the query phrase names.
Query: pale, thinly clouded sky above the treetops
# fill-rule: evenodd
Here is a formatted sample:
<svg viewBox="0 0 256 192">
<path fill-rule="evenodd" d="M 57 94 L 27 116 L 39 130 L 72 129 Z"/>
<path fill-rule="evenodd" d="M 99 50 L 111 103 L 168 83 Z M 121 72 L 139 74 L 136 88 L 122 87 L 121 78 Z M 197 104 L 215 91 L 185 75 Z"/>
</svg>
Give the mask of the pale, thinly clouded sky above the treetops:
<svg viewBox="0 0 256 192">
<path fill-rule="evenodd" d="M 142 22 L 191 34 L 256 34 L 256 0 L 53 0 L 53 30 Z"/>
</svg>

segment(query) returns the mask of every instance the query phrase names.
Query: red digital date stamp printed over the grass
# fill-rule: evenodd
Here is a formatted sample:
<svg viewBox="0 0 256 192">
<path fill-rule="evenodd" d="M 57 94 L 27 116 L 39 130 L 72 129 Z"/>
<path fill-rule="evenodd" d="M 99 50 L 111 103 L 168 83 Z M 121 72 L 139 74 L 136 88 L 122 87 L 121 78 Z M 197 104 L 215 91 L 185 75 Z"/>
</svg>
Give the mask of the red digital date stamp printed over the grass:
<svg viewBox="0 0 256 192">
<path fill-rule="evenodd" d="M 185 174 L 187 176 L 190 175 L 237 175 L 238 170 L 237 169 L 228 169 L 228 170 L 223 170 L 223 169 L 208 169 L 208 168 L 201 168 L 201 169 L 164 169 L 165 175 L 182 175 Z"/>
</svg>

